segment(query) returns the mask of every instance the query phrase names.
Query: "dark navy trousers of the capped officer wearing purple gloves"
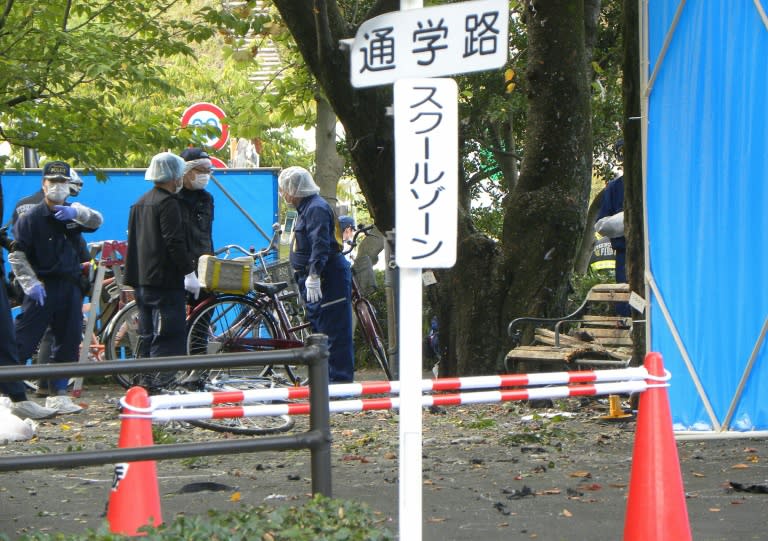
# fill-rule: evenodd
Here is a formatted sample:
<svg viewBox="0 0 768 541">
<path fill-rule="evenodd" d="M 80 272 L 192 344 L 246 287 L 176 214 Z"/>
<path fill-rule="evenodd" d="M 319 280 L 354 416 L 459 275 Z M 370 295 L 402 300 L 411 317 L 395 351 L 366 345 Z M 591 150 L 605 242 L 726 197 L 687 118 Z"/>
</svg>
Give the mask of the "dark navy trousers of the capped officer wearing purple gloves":
<svg viewBox="0 0 768 541">
<path fill-rule="evenodd" d="M 80 286 L 65 278 L 45 279 L 45 304 L 40 306 L 24 296 L 21 314 L 16 318 L 19 359 L 26 360 L 35 350 L 50 325 L 53 333 L 53 361 L 73 363 L 79 357 L 83 336 L 83 294 Z M 51 380 L 57 393 L 67 390 L 69 378 Z"/>
</svg>

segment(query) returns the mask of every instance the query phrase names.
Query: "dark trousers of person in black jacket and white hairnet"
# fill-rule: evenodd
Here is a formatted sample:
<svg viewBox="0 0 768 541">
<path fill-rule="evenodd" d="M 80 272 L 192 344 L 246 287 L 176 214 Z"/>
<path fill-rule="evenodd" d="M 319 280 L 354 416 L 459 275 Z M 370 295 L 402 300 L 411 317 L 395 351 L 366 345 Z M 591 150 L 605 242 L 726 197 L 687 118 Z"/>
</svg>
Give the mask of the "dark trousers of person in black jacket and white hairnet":
<svg viewBox="0 0 768 541">
<path fill-rule="evenodd" d="M 171 357 L 187 353 L 187 309 L 183 289 L 139 286 L 140 357 Z"/>
</svg>

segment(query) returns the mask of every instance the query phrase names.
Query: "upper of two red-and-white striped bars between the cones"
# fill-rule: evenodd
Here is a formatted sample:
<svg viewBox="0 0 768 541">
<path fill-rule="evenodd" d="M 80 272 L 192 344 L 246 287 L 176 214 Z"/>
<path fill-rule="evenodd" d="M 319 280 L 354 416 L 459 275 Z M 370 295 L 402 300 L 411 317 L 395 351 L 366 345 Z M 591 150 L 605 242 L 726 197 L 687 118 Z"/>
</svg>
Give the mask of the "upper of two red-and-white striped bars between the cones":
<svg viewBox="0 0 768 541">
<path fill-rule="evenodd" d="M 421 391 L 445 392 L 465 391 L 470 389 L 503 389 L 508 387 L 538 385 L 637 381 L 645 380 L 647 378 L 648 372 L 644 367 L 640 366 L 615 370 L 580 370 L 574 372 L 546 372 L 538 374 L 504 374 L 498 376 L 425 379 L 421 382 Z M 372 394 L 399 394 L 399 392 L 399 381 L 336 383 L 328 386 L 328 394 L 331 398 Z M 307 398 L 309 398 L 309 387 L 274 387 L 270 389 L 251 389 L 246 391 L 156 395 L 150 397 L 150 410 L 193 406 L 215 406 L 216 404 L 231 404 L 234 402 L 249 403 L 275 400 L 306 400 Z M 522 398 L 520 400 L 527 400 L 527 398 Z"/>
</svg>

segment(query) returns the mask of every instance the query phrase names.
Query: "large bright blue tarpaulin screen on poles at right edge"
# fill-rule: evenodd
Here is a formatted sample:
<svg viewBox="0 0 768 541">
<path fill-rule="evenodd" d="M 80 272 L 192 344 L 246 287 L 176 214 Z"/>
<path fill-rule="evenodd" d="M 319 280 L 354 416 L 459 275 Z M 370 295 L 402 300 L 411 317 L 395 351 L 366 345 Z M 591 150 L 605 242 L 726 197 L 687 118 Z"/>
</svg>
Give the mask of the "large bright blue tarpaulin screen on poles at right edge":
<svg viewBox="0 0 768 541">
<path fill-rule="evenodd" d="M 760 4 L 648 2 L 641 22 L 648 347 L 672 374 L 677 429 L 768 429 Z"/>
</svg>

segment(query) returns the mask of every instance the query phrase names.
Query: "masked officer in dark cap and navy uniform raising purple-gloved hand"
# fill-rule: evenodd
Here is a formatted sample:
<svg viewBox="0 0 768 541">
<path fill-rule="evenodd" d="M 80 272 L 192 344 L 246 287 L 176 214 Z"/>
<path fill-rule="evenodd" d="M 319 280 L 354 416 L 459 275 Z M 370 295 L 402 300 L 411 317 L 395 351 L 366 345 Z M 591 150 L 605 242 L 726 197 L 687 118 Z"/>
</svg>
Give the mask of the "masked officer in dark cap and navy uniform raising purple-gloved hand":
<svg viewBox="0 0 768 541">
<path fill-rule="evenodd" d="M 75 362 L 82 337 L 83 293 L 80 263 L 87 260 L 82 233 L 98 229 L 101 214 L 79 203 L 69 204 L 71 167 L 52 161 L 43 167 L 43 200 L 19 216 L 13 226 L 16 250 L 8 261 L 24 290 L 16 319 L 19 359 L 27 359 L 50 325 L 54 362 Z M 69 378 L 51 380 L 56 396 L 46 407 L 59 413 L 82 408 L 66 396 Z"/>
</svg>

